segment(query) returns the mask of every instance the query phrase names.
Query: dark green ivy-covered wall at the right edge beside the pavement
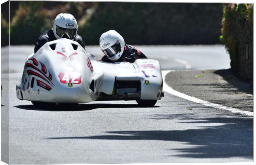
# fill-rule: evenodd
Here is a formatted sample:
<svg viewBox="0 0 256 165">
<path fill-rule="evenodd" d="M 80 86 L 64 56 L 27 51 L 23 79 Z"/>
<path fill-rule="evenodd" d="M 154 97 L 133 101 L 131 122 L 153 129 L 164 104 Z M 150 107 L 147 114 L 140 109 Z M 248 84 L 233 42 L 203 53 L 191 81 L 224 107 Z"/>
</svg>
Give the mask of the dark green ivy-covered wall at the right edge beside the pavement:
<svg viewBox="0 0 256 165">
<path fill-rule="evenodd" d="M 244 79 L 251 80 L 253 78 L 253 5 L 225 5 L 222 25 L 220 41 L 230 54 L 231 68 Z"/>
</svg>

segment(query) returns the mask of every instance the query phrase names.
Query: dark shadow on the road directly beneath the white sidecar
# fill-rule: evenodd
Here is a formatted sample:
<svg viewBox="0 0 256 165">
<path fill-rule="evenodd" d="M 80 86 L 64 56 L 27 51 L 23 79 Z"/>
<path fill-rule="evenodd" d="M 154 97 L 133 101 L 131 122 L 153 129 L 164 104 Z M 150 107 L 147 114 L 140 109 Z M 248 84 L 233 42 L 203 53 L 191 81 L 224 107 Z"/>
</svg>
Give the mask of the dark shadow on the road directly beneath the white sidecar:
<svg viewBox="0 0 256 165">
<path fill-rule="evenodd" d="M 77 105 L 53 105 L 53 106 L 34 106 L 19 105 L 16 108 L 33 111 L 88 111 L 97 108 L 141 108 L 138 104 L 77 104 Z M 154 108 L 159 106 L 153 106 Z"/>
</svg>

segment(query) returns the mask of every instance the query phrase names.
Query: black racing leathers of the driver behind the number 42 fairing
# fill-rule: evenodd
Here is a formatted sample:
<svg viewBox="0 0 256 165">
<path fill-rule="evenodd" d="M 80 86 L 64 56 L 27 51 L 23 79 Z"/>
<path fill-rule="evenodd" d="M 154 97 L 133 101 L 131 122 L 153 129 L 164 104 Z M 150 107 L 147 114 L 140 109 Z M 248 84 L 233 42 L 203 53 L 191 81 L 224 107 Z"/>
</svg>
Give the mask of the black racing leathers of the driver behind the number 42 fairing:
<svg viewBox="0 0 256 165">
<path fill-rule="evenodd" d="M 49 29 L 45 31 L 38 40 L 36 41 L 36 46 L 34 48 L 34 52 L 38 51 L 40 47 L 42 47 L 46 42 L 57 40 L 55 37 L 53 30 Z M 73 39 L 74 41 L 78 42 L 83 48 L 85 48 L 85 43 L 83 42 L 83 38 L 80 35 L 76 35 L 75 38 Z"/>
</svg>

